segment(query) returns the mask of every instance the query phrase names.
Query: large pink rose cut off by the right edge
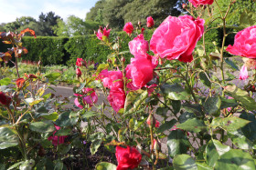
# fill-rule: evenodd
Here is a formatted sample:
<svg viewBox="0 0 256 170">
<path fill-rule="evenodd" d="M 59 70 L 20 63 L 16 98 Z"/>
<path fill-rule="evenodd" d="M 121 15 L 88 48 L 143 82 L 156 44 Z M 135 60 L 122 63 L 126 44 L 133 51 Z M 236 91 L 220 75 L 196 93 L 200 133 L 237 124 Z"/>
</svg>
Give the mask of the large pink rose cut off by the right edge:
<svg viewBox="0 0 256 170">
<path fill-rule="evenodd" d="M 256 59 L 256 25 L 241 30 L 235 36 L 234 45 L 229 45 L 226 50 L 232 55 Z"/>
</svg>

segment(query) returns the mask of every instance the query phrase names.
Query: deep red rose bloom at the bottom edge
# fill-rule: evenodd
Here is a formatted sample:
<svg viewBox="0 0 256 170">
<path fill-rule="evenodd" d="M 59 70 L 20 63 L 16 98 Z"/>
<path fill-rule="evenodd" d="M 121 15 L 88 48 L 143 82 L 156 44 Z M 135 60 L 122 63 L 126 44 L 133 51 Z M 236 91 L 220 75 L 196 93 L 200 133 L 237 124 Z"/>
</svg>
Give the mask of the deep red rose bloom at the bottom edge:
<svg viewBox="0 0 256 170">
<path fill-rule="evenodd" d="M 127 146 L 123 148 L 119 145 L 115 148 L 115 156 L 118 162 L 116 170 L 127 170 L 138 167 L 141 163 L 142 155 L 135 147 Z"/>
</svg>

